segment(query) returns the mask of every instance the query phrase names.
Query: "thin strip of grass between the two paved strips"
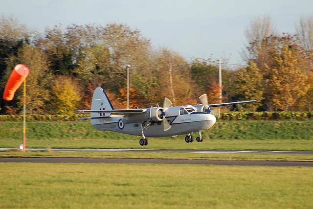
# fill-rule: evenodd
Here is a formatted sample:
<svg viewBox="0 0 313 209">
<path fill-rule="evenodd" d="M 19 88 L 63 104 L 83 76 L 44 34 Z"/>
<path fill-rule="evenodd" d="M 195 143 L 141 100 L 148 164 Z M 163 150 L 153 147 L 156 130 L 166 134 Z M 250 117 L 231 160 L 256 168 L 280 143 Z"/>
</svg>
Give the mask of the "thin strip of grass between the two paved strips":
<svg viewBox="0 0 313 209">
<path fill-rule="evenodd" d="M 64 152 L 64 151 L 0 151 L 0 157 L 17 158 L 135 158 L 233 161 L 313 161 L 313 155 L 251 153 L 188 153 L 188 152 Z"/>
</svg>

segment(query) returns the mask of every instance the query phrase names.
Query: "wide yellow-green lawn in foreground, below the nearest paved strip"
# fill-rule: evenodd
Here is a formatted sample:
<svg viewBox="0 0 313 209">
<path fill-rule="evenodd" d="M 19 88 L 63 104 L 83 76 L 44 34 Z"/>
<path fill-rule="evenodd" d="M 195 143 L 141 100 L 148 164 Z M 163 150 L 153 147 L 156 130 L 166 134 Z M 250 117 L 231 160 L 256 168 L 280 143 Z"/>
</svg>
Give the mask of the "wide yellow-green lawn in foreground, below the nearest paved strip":
<svg viewBox="0 0 313 209">
<path fill-rule="evenodd" d="M 313 168 L 0 163 L 0 208 L 313 208 Z"/>
</svg>

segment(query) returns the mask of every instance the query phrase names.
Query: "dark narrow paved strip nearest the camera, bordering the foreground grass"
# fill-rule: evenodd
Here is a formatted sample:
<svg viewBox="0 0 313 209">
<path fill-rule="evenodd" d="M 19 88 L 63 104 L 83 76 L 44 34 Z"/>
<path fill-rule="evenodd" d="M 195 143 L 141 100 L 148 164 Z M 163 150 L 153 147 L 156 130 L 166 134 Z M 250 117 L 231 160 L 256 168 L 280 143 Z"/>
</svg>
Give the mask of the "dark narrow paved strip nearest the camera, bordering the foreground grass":
<svg viewBox="0 0 313 209">
<path fill-rule="evenodd" d="M 0 163 L 152 163 L 152 164 L 212 164 L 238 166 L 305 166 L 313 162 L 296 161 L 211 161 L 211 160 L 164 160 L 164 159 L 116 159 L 116 158 L 0 158 Z"/>
</svg>

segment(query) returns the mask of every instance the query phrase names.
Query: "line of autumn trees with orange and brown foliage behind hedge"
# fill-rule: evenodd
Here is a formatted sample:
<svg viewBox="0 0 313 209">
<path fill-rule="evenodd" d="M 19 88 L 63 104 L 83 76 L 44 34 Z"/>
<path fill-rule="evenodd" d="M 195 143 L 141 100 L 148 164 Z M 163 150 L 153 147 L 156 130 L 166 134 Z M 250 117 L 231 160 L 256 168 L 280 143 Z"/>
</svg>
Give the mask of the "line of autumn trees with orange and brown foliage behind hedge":
<svg viewBox="0 0 313 209">
<path fill-rule="evenodd" d="M 245 66 L 223 59 L 223 102 L 256 99 L 229 107 L 239 111 L 313 111 L 313 16 L 300 18 L 297 34 L 279 34 L 268 15 L 246 28 Z M 130 68 L 130 108 L 195 105 L 207 93 L 219 103 L 218 62 L 187 60 L 166 47 L 154 48 L 137 29 L 124 23 L 63 26 L 39 33 L 14 17 L 0 18 L 0 114 L 19 114 L 22 88 L 12 101 L 2 99 L 17 64 L 29 67 L 27 114 L 70 114 L 90 109 L 96 87 L 114 108 L 126 108 Z"/>
</svg>

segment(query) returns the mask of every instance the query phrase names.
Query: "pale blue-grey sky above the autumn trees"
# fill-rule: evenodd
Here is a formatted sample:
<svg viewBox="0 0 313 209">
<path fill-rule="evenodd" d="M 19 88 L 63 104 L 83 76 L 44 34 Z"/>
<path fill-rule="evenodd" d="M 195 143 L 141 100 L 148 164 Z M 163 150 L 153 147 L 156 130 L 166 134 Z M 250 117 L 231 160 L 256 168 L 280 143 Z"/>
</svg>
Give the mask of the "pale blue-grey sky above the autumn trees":
<svg viewBox="0 0 313 209">
<path fill-rule="evenodd" d="M 126 23 L 155 48 L 229 64 L 243 63 L 245 29 L 265 14 L 280 33 L 294 34 L 300 18 L 313 15 L 313 0 L 0 0 L 0 16 L 40 32 L 59 23 Z"/>
</svg>

